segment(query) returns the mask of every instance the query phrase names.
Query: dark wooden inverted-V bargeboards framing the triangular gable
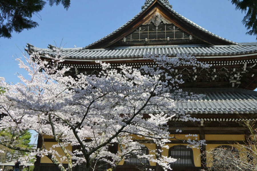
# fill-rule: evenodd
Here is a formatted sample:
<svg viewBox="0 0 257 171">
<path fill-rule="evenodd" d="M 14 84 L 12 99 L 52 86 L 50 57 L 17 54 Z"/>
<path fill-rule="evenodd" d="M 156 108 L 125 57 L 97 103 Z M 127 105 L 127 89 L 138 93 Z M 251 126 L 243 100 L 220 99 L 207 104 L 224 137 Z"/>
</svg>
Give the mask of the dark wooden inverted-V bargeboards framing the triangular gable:
<svg viewBox="0 0 257 171">
<path fill-rule="evenodd" d="M 175 15 L 174 13 L 172 13 L 172 11 L 167 9 L 167 7 L 165 5 L 160 3 L 158 0 L 155 0 L 154 3 L 152 3 L 152 5 L 150 5 L 146 10 L 144 10 L 130 24 L 123 27 L 119 31 L 113 33 L 111 36 L 107 37 L 106 39 L 103 39 L 102 41 L 99 41 L 99 42 L 93 43 L 92 45 L 89 45 L 85 49 L 102 49 L 102 48 L 110 47 L 112 44 L 123 39 L 123 37 L 126 37 L 128 34 L 132 33 L 134 30 L 136 30 L 147 19 L 149 19 L 156 11 L 161 13 L 164 18 L 169 19 L 176 27 L 182 29 L 183 31 L 192 35 L 193 37 L 206 42 L 207 44 L 210 44 L 210 45 L 231 45 L 231 44 L 233 44 L 226 40 L 212 36 L 209 33 L 206 33 L 204 31 L 200 30 L 199 28 L 195 27 L 194 25 L 185 22 L 180 17 L 178 17 L 178 15 Z"/>
</svg>

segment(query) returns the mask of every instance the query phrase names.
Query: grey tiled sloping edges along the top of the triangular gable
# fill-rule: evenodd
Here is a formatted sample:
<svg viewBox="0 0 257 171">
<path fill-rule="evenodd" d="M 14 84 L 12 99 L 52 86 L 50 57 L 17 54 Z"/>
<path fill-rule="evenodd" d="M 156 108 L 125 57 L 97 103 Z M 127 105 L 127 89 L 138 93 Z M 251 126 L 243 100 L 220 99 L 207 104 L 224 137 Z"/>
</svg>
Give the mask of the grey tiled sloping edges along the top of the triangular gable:
<svg viewBox="0 0 257 171">
<path fill-rule="evenodd" d="M 133 17 L 132 19 L 130 19 L 127 23 L 125 23 L 123 26 L 119 27 L 117 30 L 113 31 L 112 33 L 110 33 L 109 35 L 99 39 L 98 41 L 95 41 L 94 43 L 90 44 L 90 45 L 87 45 L 86 47 L 84 47 L 85 49 L 89 49 L 92 45 L 95 45 L 96 43 L 99 43 L 107 38 L 109 38 L 110 36 L 114 35 L 115 33 L 117 33 L 118 31 L 120 31 L 121 29 L 123 29 L 124 27 L 126 27 L 127 25 L 129 25 L 130 23 L 132 23 L 138 16 L 140 16 L 150 5 L 152 5 L 152 3 L 154 2 L 155 0 L 146 0 L 144 7 L 135 17 Z M 234 41 L 230 41 L 228 39 L 225 39 L 223 37 L 220 37 L 214 33 L 211 33 L 210 31 L 200 27 L 199 25 L 197 25 L 196 23 L 190 21 L 189 19 L 185 18 L 184 16 L 180 15 L 179 13 L 177 13 L 176 11 L 174 11 L 171 7 L 171 5 L 169 5 L 168 3 L 168 0 L 158 0 L 160 3 L 162 3 L 164 5 L 164 7 L 166 7 L 166 9 L 168 11 L 170 11 L 171 13 L 173 13 L 175 16 L 177 16 L 178 18 L 180 18 L 182 21 L 185 21 L 186 23 L 189 23 L 190 25 L 192 25 L 193 27 L 196 27 L 198 28 L 199 30 L 201 31 L 204 31 L 205 33 L 211 35 L 211 36 L 214 36 L 218 39 L 221 39 L 223 41 L 226 41 L 228 43 L 231 43 L 231 44 L 238 44 Z"/>
</svg>

